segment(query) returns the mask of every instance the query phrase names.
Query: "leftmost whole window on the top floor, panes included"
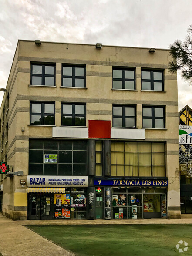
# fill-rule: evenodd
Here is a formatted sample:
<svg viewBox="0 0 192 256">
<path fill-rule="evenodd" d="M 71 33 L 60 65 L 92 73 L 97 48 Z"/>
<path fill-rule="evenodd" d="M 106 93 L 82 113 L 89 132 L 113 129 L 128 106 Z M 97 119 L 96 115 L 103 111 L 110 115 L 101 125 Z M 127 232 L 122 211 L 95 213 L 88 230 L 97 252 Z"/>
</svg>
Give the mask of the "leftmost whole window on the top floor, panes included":
<svg viewBox="0 0 192 256">
<path fill-rule="evenodd" d="M 55 64 L 31 64 L 31 84 L 55 85 Z"/>
</svg>

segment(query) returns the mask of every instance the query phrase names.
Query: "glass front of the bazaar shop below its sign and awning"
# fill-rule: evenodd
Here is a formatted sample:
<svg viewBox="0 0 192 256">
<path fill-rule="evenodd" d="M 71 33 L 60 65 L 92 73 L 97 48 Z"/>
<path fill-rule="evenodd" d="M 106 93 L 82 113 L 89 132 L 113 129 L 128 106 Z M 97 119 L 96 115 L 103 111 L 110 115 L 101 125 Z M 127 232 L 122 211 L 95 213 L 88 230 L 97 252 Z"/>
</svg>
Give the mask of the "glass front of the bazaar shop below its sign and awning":
<svg viewBox="0 0 192 256">
<path fill-rule="evenodd" d="M 51 189 L 50 189 L 51 190 Z M 87 189 L 28 193 L 28 219 L 87 219 Z"/>
</svg>

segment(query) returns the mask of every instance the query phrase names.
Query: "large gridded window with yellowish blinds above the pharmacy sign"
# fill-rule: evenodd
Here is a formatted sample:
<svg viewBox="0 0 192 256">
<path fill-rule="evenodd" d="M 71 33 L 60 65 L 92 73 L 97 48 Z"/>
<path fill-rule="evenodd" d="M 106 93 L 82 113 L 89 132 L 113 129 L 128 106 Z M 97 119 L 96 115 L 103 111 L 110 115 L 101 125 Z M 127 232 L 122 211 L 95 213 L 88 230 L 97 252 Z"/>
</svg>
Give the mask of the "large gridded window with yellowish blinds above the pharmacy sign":
<svg viewBox="0 0 192 256">
<path fill-rule="evenodd" d="M 111 176 L 165 177 L 164 143 L 111 142 Z"/>
</svg>

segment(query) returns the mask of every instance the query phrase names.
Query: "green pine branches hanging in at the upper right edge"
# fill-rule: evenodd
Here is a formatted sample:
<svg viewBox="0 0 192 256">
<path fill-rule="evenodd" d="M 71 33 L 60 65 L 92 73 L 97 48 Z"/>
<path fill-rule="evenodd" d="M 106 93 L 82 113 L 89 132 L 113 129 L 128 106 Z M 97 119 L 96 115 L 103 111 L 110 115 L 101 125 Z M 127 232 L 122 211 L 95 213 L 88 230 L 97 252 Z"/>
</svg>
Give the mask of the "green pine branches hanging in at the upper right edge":
<svg viewBox="0 0 192 256">
<path fill-rule="evenodd" d="M 192 84 L 192 25 L 188 28 L 189 34 L 182 41 L 176 40 L 169 46 L 169 54 L 172 61 L 169 62 L 168 70 L 175 74 L 181 71 L 182 77 Z"/>
</svg>

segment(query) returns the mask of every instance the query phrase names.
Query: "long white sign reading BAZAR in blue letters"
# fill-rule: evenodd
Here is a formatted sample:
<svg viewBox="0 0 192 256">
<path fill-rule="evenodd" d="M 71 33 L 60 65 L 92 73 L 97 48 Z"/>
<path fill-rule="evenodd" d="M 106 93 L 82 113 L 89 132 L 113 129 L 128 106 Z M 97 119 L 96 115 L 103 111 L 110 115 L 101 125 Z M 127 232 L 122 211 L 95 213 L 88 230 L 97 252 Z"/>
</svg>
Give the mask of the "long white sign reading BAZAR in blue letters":
<svg viewBox="0 0 192 256">
<path fill-rule="evenodd" d="M 27 176 L 28 187 L 88 187 L 88 176 Z"/>
</svg>

